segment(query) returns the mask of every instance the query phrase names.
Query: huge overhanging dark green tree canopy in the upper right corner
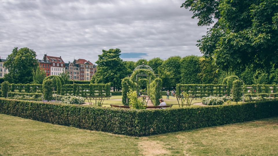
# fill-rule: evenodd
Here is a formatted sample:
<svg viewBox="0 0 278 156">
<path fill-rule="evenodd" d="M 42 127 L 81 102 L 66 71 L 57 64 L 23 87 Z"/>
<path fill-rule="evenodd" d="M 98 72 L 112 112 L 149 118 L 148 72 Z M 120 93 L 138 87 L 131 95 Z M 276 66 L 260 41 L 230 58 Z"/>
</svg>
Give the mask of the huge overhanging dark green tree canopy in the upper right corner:
<svg viewBox="0 0 278 156">
<path fill-rule="evenodd" d="M 199 26 L 210 26 L 197 46 L 222 69 L 278 66 L 277 0 L 186 0 Z"/>
</svg>

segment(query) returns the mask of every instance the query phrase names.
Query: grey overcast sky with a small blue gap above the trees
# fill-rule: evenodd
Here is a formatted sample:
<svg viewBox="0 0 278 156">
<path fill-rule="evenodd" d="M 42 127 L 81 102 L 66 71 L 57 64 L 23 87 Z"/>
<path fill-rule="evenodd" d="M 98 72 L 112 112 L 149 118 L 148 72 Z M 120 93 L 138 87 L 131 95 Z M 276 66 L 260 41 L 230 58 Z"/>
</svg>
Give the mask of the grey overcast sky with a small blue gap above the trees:
<svg viewBox="0 0 278 156">
<path fill-rule="evenodd" d="M 62 56 L 65 62 L 98 59 L 119 48 L 123 60 L 202 55 L 206 34 L 184 0 L 0 0 L 0 57 L 14 47 Z"/>
</svg>

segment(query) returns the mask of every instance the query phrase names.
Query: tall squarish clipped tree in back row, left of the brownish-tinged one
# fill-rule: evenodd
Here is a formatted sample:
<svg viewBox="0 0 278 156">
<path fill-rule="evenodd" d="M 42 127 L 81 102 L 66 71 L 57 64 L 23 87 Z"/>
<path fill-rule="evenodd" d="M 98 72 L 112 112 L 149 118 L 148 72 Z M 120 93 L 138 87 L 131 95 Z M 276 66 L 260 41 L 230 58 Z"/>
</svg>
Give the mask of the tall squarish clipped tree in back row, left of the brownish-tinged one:
<svg viewBox="0 0 278 156">
<path fill-rule="evenodd" d="M 199 56 L 190 55 L 185 56 L 181 60 L 181 82 L 183 84 L 198 84 L 200 78 L 198 73 L 200 72 Z"/>
</svg>

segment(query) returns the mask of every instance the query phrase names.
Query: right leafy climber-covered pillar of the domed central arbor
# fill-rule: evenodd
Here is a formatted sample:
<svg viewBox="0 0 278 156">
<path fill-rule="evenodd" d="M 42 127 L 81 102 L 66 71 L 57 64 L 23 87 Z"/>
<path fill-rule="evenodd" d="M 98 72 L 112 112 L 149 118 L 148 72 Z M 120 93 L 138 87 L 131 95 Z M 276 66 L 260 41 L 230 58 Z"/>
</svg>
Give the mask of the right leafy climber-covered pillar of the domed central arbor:
<svg viewBox="0 0 278 156">
<path fill-rule="evenodd" d="M 162 79 L 154 79 L 149 88 L 149 96 L 153 105 L 157 106 L 160 104 L 159 99 L 161 98 L 160 90 L 162 88 Z"/>
</svg>

